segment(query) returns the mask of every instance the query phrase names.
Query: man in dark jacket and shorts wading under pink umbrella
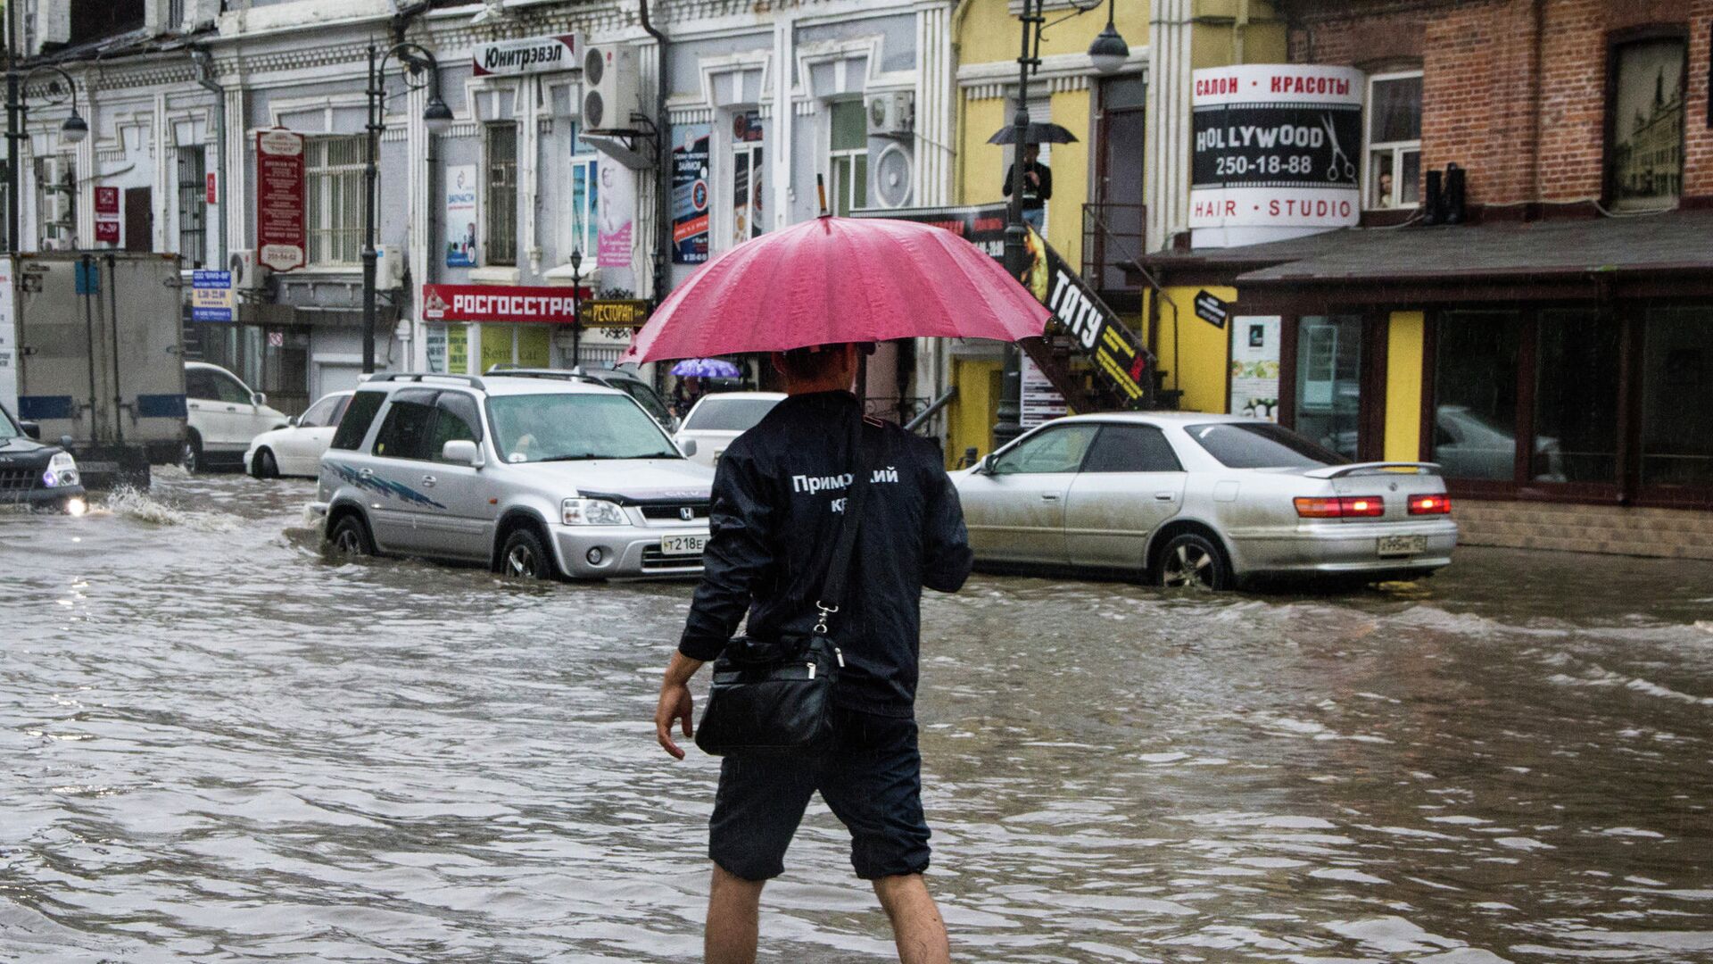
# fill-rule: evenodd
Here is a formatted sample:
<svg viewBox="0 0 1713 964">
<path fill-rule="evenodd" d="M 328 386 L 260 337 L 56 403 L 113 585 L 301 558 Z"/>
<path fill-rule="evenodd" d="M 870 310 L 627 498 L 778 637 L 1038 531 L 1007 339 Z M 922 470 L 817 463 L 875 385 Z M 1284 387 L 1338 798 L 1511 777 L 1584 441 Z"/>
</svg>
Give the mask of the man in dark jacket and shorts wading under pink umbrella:
<svg viewBox="0 0 1713 964">
<path fill-rule="evenodd" d="M 711 539 L 683 638 L 661 683 L 654 729 L 677 758 L 673 727 L 692 736 L 689 681 L 719 655 L 749 612 L 749 635 L 810 631 L 814 585 L 845 518 L 841 477 L 858 401 L 850 393 L 858 345 L 776 353 L 790 398 L 719 458 Z M 971 554 L 958 491 L 939 448 L 896 425 L 863 420 L 867 465 L 884 468 L 862 509 L 839 619 L 845 669 L 834 690 L 834 748 L 814 760 L 726 756 L 709 820 L 714 861 L 704 938 L 709 964 L 755 961 L 762 885 L 783 870 L 809 798 L 821 791 L 851 834 L 856 877 L 874 883 L 904 964 L 951 961 L 946 923 L 922 873 L 928 825 L 916 750 L 916 657 L 922 588 L 956 592 Z M 797 482 L 793 482 L 797 480 Z M 809 595 L 805 600 L 803 597 Z"/>
</svg>

